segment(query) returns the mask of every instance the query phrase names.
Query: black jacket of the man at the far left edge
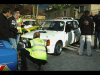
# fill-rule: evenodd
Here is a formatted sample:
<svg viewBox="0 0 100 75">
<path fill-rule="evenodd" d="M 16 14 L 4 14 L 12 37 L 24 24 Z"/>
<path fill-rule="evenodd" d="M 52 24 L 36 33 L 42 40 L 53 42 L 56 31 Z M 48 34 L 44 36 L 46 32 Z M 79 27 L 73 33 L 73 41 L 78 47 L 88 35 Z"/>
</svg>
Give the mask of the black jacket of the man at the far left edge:
<svg viewBox="0 0 100 75">
<path fill-rule="evenodd" d="M 0 14 L 0 40 L 9 40 L 9 23 L 2 13 Z"/>
</svg>

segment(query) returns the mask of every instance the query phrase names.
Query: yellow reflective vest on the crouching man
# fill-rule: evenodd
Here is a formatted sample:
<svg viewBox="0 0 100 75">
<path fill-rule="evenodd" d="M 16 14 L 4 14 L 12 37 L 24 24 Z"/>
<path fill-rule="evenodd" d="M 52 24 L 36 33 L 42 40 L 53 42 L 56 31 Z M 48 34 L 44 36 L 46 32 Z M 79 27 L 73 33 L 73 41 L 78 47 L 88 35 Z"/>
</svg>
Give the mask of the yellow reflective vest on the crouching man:
<svg viewBox="0 0 100 75">
<path fill-rule="evenodd" d="M 36 59 L 46 60 L 46 42 L 40 38 L 30 40 L 31 48 L 26 48 L 30 52 L 30 56 Z"/>
</svg>

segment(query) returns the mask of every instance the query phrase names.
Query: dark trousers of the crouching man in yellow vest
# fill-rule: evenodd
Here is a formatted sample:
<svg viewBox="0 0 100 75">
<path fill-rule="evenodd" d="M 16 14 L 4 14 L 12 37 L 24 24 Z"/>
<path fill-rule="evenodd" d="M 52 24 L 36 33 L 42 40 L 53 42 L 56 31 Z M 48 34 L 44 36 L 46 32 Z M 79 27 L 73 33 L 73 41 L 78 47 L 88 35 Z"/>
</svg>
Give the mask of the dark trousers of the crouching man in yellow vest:
<svg viewBox="0 0 100 75">
<path fill-rule="evenodd" d="M 46 64 L 47 61 L 45 60 L 40 60 L 40 59 L 35 59 L 33 57 L 30 56 L 30 52 L 27 51 L 26 49 L 22 48 L 21 49 L 21 65 L 23 68 L 27 68 L 27 63 L 26 63 L 26 57 L 31 60 L 33 63 L 38 64 L 39 66 L 42 64 Z"/>
</svg>

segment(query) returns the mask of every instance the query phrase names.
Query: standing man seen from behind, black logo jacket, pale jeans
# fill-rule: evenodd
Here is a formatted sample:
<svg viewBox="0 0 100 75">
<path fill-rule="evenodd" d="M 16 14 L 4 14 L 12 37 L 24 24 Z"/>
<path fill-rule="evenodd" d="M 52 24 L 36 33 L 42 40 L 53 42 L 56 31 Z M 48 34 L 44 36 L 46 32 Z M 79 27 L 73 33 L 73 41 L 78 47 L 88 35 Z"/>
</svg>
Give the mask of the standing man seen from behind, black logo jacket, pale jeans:
<svg viewBox="0 0 100 75">
<path fill-rule="evenodd" d="M 86 10 L 85 15 L 80 18 L 79 26 L 81 30 L 81 37 L 80 37 L 80 48 L 78 50 L 78 55 L 82 55 L 84 42 L 86 39 L 87 43 L 87 54 L 88 56 L 92 56 L 91 54 L 91 35 L 93 35 L 94 24 L 92 19 L 89 17 L 89 11 Z"/>
</svg>

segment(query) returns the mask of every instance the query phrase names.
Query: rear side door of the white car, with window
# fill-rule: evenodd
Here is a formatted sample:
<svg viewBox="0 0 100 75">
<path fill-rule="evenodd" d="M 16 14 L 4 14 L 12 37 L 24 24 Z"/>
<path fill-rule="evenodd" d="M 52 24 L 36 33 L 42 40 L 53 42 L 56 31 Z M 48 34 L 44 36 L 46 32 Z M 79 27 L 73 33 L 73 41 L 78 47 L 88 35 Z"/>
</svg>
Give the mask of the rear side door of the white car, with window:
<svg viewBox="0 0 100 75">
<path fill-rule="evenodd" d="M 74 38 L 74 42 L 77 42 L 80 38 L 80 29 L 78 28 L 78 22 L 77 21 L 73 21 L 73 30 L 74 30 L 74 34 L 75 34 L 75 38 Z"/>
</svg>

